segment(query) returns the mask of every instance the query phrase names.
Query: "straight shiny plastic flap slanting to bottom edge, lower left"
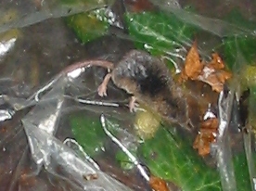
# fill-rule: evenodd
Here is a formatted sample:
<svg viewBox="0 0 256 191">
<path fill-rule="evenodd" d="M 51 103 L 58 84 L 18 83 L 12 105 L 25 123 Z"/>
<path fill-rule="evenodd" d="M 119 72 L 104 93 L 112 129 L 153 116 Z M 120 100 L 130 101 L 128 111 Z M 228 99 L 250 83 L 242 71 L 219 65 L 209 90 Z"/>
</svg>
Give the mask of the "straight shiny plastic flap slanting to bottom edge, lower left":
<svg viewBox="0 0 256 191">
<path fill-rule="evenodd" d="M 23 124 L 29 135 L 32 155 L 34 159 L 36 157 L 38 165 L 44 164 L 46 171 L 57 174 L 74 185 L 82 186 L 83 190 L 131 190 L 100 172 L 90 161 L 79 159 L 69 147 L 64 146 L 51 134 L 45 133 L 28 121 L 23 121 Z M 41 155 L 38 150 L 42 152 Z M 64 170 L 62 175 L 58 174 L 58 168 Z"/>
</svg>

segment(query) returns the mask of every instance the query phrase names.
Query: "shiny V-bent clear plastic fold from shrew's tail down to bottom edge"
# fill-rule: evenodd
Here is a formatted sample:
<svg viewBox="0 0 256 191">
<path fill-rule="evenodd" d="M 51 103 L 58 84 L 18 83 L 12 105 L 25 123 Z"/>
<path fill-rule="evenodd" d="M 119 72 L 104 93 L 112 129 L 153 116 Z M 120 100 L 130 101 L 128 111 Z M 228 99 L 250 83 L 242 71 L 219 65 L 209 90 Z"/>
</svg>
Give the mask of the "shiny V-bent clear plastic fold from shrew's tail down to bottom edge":
<svg viewBox="0 0 256 191">
<path fill-rule="evenodd" d="M 79 70 L 83 71 L 83 68 L 79 68 Z M 72 70 L 70 73 L 75 71 Z M 70 75 L 70 73 L 67 76 L 77 78 L 81 72 L 77 75 Z M 46 171 L 53 174 L 57 173 L 57 166 L 64 168 L 65 173 L 67 173 L 66 178 L 71 176 L 72 180 L 76 184 L 82 185 L 84 190 L 130 190 L 130 188 L 118 183 L 107 174 L 100 172 L 90 161 L 84 163 L 82 159 L 79 159 L 75 153 L 67 146 L 63 146 L 54 137 L 58 131 L 58 121 L 64 104 L 64 93 L 61 90 L 64 90 L 69 82 L 65 76 L 63 75 L 64 78 L 57 77 L 47 83 L 46 88 L 39 90 L 34 96 L 38 103 L 22 119 L 22 124 L 28 136 L 32 159 L 37 165 L 43 165 Z M 58 83 L 52 83 L 57 82 L 56 80 L 58 80 Z M 50 86 L 53 88 L 44 96 L 40 96 L 39 99 L 38 95 L 40 93 L 44 94 L 44 91 Z M 29 100 L 32 100 L 32 98 L 29 98 Z M 40 117 L 35 118 L 35 116 Z"/>
</svg>

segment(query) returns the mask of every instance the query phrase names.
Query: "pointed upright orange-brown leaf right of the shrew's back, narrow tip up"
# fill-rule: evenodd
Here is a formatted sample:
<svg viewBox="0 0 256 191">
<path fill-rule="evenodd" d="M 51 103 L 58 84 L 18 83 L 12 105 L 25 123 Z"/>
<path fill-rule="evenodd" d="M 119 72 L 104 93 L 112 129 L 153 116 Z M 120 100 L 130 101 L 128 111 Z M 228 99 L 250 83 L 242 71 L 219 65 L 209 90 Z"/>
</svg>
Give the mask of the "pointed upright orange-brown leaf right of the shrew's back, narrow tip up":
<svg viewBox="0 0 256 191">
<path fill-rule="evenodd" d="M 197 43 L 194 43 L 186 56 L 185 74 L 191 80 L 197 80 L 202 69 L 203 64 L 200 62 Z"/>
</svg>

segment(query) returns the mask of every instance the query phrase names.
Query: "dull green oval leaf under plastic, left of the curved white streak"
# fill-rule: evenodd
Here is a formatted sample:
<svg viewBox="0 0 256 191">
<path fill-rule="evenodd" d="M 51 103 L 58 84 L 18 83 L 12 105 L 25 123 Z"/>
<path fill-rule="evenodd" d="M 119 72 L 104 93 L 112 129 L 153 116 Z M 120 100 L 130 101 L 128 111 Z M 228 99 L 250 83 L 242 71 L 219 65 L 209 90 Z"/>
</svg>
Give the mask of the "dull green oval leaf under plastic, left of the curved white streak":
<svg viewBox="0 0 256 191">
<path fill-rule="evenodd" d="M 84 151 L 93 157 L 101 152 L 106 134 L 98 118 L 83 114 L 70 116 L 71 131 L 76 141 L 83 146 Z"/>
</svg>

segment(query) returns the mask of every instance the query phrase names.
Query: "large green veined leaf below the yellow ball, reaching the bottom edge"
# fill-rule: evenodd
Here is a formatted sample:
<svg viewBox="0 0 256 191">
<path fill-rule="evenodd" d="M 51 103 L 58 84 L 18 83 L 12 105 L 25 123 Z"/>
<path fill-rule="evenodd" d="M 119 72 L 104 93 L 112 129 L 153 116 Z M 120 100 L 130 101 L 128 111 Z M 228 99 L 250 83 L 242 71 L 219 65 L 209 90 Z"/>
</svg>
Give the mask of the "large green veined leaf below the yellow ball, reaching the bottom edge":
<svg viewBox="0 0 256 191">
<path fill-rule="evenodd" d="M 150 172 L 183 191 L 222 190 L 219 173 L 206 166 L 188 143 L 186 138 L 160 128 L 140 149 Z"/>
</svg>

